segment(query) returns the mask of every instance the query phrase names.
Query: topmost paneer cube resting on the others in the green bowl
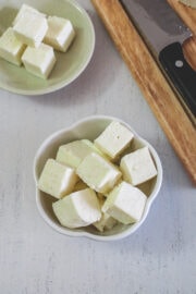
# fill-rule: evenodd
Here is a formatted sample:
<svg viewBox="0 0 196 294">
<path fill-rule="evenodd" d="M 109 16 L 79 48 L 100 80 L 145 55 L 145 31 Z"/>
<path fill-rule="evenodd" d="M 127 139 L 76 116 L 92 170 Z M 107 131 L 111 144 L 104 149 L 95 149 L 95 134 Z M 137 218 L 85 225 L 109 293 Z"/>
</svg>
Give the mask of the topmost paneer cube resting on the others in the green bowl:
<svg viewBox="0 0 196 294">
<path fill-rule="evenodd" d="M 15 36 L 24 44 L 32 47 L 39 47 L 48 29 L 45 16 L 26 11 L 21 14 L 13 26 Z"/>
</svg>

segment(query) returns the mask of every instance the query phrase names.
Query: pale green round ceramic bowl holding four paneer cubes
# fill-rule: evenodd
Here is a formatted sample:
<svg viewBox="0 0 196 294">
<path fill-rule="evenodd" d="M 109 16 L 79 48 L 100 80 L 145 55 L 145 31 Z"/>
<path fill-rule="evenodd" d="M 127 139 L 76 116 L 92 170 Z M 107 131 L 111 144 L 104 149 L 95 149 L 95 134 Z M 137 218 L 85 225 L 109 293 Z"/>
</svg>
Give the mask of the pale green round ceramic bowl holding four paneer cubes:
<svg viewBox="0 0 196 294">
<path fill-rule="evenodd" d="M 22 0 L 0 0 L 0 35 L 12 25 Z M 22 95 L 42 95 L 58 90 L 73 82 L 85 70 L 95 48 L 95 30 L 86 13 L 72 0 L 27 0 L 26 4 L 48 15 L 69 19 L 76 37 L 65 53 L 56 51 L 57 64 L 47 81 L 28 73 L 0 58 L 0 87 Z"/>
</svg>

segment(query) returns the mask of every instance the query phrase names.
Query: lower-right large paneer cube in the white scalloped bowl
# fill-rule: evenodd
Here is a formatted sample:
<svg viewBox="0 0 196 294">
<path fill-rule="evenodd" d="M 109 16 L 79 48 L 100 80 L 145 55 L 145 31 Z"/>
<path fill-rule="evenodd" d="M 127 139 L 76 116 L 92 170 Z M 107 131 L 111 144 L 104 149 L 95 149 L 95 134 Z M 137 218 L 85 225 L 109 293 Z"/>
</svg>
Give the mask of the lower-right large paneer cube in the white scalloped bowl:
<svg viewBox="0 0 196 294">
<path fill-rule="evenodd" d="M 124 224 L 130 224 L 140 220 L 146 200 L 147 197 L 140 189 L 122 182 L 108 195 L 102 211 Z"/>
</svg>

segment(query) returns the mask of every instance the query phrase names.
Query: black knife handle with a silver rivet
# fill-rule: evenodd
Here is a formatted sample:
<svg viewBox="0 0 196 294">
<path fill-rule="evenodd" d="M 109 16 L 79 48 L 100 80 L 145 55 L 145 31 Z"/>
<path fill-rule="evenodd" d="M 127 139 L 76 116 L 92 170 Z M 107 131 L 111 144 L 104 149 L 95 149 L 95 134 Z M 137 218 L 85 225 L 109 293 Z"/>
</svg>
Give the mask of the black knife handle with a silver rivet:
<svg viewBox="0 0 196 294">
<path fill-rule="evenodd" d="M 159 60 L 168 76 L 196 115 L 196 71 L 184 58 L 180 42 L 173 42 L 160 51 Z"/>
</svg>

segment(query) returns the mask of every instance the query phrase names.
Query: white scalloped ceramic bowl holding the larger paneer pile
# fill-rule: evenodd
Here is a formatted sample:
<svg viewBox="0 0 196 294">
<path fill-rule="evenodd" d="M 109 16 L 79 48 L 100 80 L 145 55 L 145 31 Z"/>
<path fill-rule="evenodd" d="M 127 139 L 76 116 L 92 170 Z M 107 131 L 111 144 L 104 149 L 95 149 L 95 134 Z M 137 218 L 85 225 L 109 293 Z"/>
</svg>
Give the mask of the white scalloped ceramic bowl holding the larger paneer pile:
<svg viewBox="0 0 196 294">
<path fill-rule="evenodd" d="M 75 124 L 73 124 L 72 126 L 65 127 L 52 134 L 41 144 L 34 160 L 34 177 L 35 177 L 36 186 L 37 186 L 37 181 L 39 179 L 39 175 L 45 166 L 45 162 L 47 161 L 48 158 L 56 157 L 57 150 L 60 145 L 63 145 L 65 143 L 69 143 L 75 139 L 82 139 L 82 138 L 88 138 L 93 140 L 113 120 L 120 121 L 122 124 L 124 124 L 134 133 L 134 136 L 135 136 L 134 147 L 136 149 L 142 146 L 148 146 L 150 154 L 152 156 L 152 159 L 155 161 L 155 164 L 157 167 L 157 170 L 158 170 L 158 175 L 155 179 L 150 180 L 149 182 L 140 186 L 142 189 L 148 195 L 148 199 L 147 199 L 147 204 L 146 204 L 143 217 L 139 222 L 136 222 L 130 225 L 118 224 L 112 230 L 106 231 L 103 233 L 98 232 L 96 228 L 94 228 L 93 225 L 71 230 L 71 229 L 62 226 L 57 220 L 52 211 L 52 201 L 54 201 L 56 199 L 53 197 L 46 195 L 45 193 L 42 193 L 36 187 L 36 203 L 37 203 L 38 210 L 41 217 L 44 218 L 44 220 L 59 233 L 70 235 L 70 236 L 86 236 L 86 237 L 100 240 L 100 241 L 113 241 L 113 240 L 125 237 L 134 233 L 142 225 L 142 223 L 145 221 L 150 210 L 151 204 L 154 203 L 155 198 L 158 195 L 158 192 L 162 183 L 162 167 L 161 167 L 160 159 L 155 148 L 147 140 L 142 138 L 139 135 L 137 135 L 136 132 L 125 122 L 117 118 L 103 117 L 103 115 L 95 115 L 95 117 L 83 119 L 76 122 Z"/>
</svg>

